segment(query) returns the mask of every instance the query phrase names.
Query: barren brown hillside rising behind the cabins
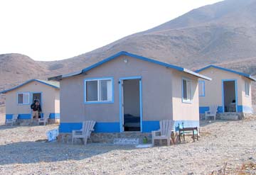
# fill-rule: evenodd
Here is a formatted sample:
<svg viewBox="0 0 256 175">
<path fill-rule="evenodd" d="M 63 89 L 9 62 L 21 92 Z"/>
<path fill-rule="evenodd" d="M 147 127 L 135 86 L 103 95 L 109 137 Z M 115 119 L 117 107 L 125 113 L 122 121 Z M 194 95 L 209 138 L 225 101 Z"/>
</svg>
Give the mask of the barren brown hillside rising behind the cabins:
<svg viewBox="0 0 256 175">
<path fill-rule="evenodd" d="M 34 62 L 13 54 L 12 59 L 4 60 L 0 55 L 0 89 L 21 79 L 77 71 L 120 50 L 190 69 L 218 64 L 256 75 L 256 0 L 226 0 L 203 6 L 155 28 L 66 60 Z M 20 59 L 14 59 L 16 56 Z M 9 65 L 4 72 L 2 67 L 6 66 L 2 64 Z"/>
</svg>

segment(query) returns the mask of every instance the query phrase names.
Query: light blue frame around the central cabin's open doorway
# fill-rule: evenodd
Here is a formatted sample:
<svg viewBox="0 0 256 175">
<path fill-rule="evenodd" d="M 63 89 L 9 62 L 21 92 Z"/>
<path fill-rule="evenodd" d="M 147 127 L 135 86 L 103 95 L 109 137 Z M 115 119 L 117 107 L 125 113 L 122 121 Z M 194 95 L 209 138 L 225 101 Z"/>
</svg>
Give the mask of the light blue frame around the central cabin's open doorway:
<svg viewBox="0 0 256 175">
<path fill-rule="evenodd" d="M 139 79 L 139 114 L 140 114 L 140 132 L 142 132 L 142 77 L 122 77 L 119 79 L 119 125 L 120 125 L 120 132 L 124 132 L 124 113 L 122 110 L 122 97 L 123 97 L 123 88 L 122 88 L 122 81 L 127 79 Z"/>
</svg>

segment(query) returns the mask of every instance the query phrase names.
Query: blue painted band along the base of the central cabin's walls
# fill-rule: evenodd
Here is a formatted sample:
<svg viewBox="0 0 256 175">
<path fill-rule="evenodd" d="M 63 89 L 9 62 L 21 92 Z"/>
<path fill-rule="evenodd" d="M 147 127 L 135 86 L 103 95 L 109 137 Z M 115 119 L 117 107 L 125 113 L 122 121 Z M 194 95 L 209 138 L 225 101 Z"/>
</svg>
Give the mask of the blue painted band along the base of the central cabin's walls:
<svg viewBox="0 0 256 175">
<path fill-rule="evenodd" d="M 198 120 L 176 120 L 174 129 L 183 123 L 184 127 L 199 127 Z M 80 130 L 82 123 L 60 123 L 59 131 L 70 133 L 72 130 Z M 159 121 L 143 121 L 142 132 L 151 132 L 153 130 L 159 130 Z M 119 123 L 96 123 L 94 132 L 120 132 Z"/>
</svg>

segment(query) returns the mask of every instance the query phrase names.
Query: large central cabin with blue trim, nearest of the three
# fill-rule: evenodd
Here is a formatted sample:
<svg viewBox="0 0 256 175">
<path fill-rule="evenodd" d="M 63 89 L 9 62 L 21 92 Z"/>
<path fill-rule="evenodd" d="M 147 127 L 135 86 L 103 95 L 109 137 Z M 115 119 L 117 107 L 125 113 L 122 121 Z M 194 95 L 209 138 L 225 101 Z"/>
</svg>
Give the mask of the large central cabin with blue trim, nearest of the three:
<svg viewBox="0 0 256 175">
<path fill-rule="evenodd" d="M 129 52 L 50 79 L 60 81 L 60 135 L 95 120 L 95 142 L 149 135 L 164 119 L 175 120 L 174 127 L 199 127 L 198 79 L 210 80 Z"/>
</svg>

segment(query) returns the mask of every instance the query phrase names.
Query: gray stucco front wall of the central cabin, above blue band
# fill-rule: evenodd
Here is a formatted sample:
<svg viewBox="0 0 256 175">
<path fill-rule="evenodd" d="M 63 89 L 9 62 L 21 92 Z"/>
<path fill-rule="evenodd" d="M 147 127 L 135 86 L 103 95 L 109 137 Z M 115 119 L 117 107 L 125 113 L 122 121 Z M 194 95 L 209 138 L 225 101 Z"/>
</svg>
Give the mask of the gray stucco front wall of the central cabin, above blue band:
<svg viewBox="0 0 256 175">
<path fill-rule="evenodd" d="M 143 120 L 172 119 L 173 71 L 151 62 L 120 56 L 86 74 L 63 79 L 60 81 L 60 122 L 119 122 L 119 78 L 135 76 L 142 77 Z M 102 77 L 114 79 L 114 103 L 85 104 L 84 79 Z"/>
</svg>

